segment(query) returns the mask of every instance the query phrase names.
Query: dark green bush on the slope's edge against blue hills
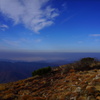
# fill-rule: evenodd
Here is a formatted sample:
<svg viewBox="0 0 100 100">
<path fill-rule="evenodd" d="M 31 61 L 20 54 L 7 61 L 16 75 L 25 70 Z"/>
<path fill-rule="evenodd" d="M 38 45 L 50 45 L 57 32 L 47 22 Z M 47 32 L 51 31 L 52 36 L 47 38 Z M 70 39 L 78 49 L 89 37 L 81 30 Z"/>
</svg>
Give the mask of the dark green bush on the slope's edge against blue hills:
<svg viewBox="0 0 100 100">
<path fill-rule="evenodd" d="M 34 72 L 32 72 L 32 76 L 44 75 L 46 73 L 49 73 L 50 71 L 51 71 L 51 67 L 48 66 L 48 67 L 45 67 L 45 68 L 41 68 L 41 69 L 35 70 Z"/>
</svg>

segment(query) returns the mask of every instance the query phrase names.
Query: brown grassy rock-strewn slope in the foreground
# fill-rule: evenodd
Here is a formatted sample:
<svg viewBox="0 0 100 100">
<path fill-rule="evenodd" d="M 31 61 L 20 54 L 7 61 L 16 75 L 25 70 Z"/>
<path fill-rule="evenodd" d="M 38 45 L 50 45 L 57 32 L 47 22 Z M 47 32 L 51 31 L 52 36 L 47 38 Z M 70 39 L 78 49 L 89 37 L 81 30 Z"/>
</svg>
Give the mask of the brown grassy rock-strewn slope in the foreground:
<svg viewBox="0 0 100 100">
<path fill-rule="evenodd" d="M 100 62 L 91 58 L 0 84 L 1 100 L 100 100 Z"/>
</svg>

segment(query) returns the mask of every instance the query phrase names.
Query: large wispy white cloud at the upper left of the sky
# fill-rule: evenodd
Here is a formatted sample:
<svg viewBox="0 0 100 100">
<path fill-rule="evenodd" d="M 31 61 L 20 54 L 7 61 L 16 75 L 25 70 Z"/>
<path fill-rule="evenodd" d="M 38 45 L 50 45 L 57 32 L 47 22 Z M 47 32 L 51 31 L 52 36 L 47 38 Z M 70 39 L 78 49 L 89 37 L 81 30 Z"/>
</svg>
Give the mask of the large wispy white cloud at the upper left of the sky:
<svg viewBox="0 0 100 100">
<path fill-rule="evenodd" d="M 39 32 L 54 23 L 59 15 L 56 8 L 47 6 L 49 0 L 0 0 L 0 11 L 11 18 L 14 24 L 22 23 L 25 27 Z"/>
</svg>

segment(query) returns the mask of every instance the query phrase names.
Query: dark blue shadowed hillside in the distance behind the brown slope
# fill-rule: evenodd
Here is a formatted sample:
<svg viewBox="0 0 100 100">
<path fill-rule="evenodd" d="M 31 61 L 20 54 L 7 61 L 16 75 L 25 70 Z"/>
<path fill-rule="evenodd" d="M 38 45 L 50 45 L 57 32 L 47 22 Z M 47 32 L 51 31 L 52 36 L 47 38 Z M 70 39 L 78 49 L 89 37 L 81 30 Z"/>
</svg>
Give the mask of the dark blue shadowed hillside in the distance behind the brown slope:
<svg viewBox="0 0 100 100">
<path fill-rule="evenodd" d="M 0 61 L 0 83 L 18 81 L 32 76 L 32 71 L 47 66 L 58 66 L 47 62 Z"/>
</svg>

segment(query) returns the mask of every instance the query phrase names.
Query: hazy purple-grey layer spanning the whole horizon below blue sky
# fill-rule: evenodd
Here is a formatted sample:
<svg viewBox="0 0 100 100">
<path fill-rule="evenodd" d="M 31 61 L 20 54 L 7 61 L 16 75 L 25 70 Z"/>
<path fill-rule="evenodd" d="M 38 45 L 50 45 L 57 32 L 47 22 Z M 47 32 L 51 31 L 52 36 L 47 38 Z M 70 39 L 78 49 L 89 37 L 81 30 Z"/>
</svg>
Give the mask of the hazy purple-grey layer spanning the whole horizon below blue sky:
<svg viewBox="0 0 100 100">
<path fill-rule="evenodd" d="M 100 59 L 100 53 L 81 52 L 29 52 L 29 51 L 1 51 L 0 60 L 15 61 L 77 61 L 84 57 Z"/>
</svg>

